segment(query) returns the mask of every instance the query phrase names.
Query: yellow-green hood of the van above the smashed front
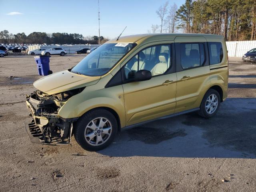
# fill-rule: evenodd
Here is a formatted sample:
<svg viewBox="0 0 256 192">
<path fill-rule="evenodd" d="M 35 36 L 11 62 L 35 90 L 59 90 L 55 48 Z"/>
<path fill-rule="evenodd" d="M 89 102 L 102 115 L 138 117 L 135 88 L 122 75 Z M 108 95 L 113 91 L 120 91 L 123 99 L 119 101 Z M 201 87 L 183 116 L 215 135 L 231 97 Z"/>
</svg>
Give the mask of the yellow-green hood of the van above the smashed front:
<svg viewBox="0 0 256 192">
<path fill-rule="evenodd" d="M 94 85 L 99 80 L 100 76 L 84 76 L 66 70 L 45 76 L 35 81 L 33 85 L 38 90 L 52 95 L 76 88 Z"/>
</svg>

